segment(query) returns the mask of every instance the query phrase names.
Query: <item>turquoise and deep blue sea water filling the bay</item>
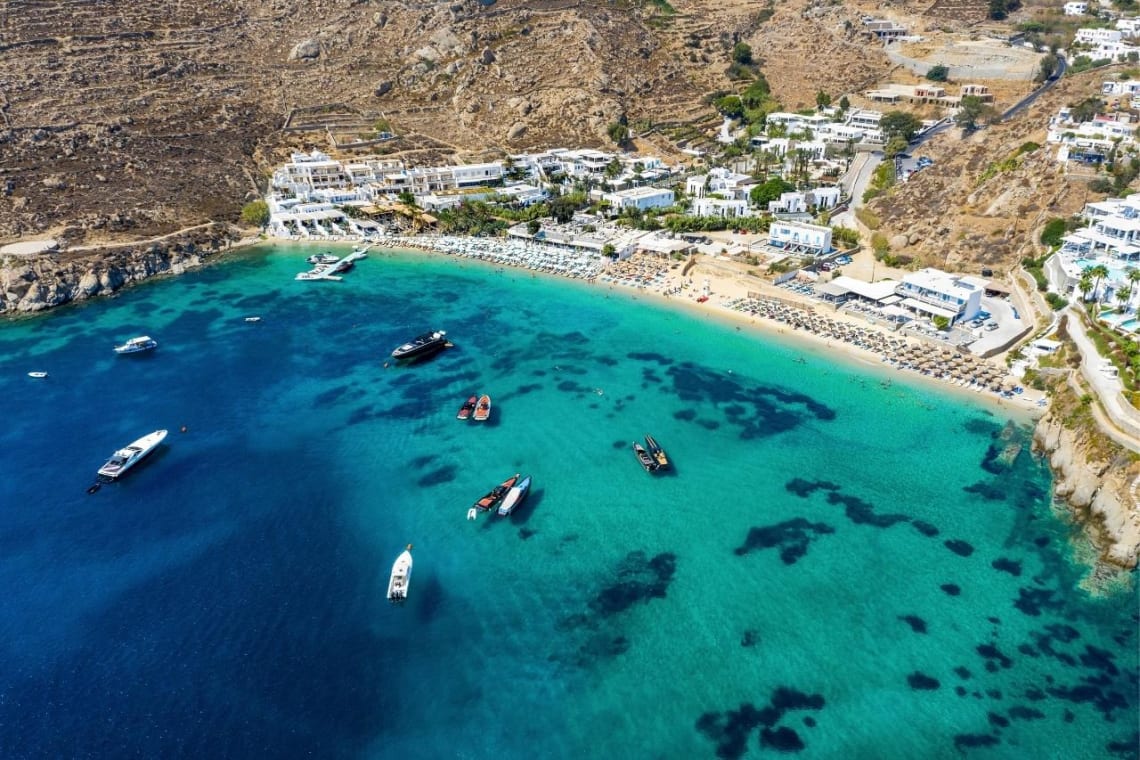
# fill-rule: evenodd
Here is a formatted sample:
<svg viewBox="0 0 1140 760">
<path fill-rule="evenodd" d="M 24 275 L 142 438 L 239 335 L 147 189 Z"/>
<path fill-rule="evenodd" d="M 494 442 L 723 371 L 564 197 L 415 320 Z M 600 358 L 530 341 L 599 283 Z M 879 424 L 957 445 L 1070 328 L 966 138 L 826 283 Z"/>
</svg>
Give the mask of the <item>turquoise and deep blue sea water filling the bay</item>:
<svg viewBox="0 0 1140 760">
<path fill-rule="evenodd" d="M 624 291 L 310 252 L 0 329 L 0 757 L 1137 757 L 1134 589 L 1080 588 L 1026 428 Z"/>
</svg>

